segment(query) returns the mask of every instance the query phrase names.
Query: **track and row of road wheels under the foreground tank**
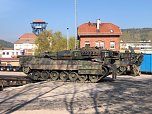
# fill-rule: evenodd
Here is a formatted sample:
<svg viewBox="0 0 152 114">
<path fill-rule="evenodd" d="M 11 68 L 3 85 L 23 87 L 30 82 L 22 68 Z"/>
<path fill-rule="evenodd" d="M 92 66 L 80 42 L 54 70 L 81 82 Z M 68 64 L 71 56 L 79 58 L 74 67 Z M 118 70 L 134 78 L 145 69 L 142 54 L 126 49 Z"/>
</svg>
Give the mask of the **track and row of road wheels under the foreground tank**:
<svg viewBox="0 0 152 114">
<path fill-rule="evenodd" d="M 27 76 L 33 81 L 62 81 L 78 83 L 97 83 L 107 76 L 107 71 L 103 75 L 78 75 L 75 71 L 39 71 L 33 70 Z"/>
</svg>

